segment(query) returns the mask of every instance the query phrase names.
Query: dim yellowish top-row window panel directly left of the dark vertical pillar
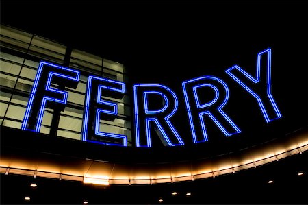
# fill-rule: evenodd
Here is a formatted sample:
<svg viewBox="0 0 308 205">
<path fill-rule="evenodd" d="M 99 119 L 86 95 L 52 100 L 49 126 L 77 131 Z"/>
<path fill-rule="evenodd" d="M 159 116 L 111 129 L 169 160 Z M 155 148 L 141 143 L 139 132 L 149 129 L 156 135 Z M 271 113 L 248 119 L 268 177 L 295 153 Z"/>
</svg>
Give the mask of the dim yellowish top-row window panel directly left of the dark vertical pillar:
<svg viewBox="0 0 308 205">
<path fill-rule="evenodd" d="M 66 46 L 61 45 L 60 43 L 55 43 L 54 41 L 47 40 L 46 38 L 42 38 L 39 36 L 34 36 L 31 44 L 37 46 L 37 47 L 33 47 L 33 49 L 38 49 L 38 47 L 41 47 L 44 49 L 48 49 L 49 51 L 55 51 L 62 55 L 64 55 L 66 51 Z M 39 50 L 43 51 L 42 49 L 39 49 Z M 49 51 L 46 51 L 46 52 L 49 52 Z"/>
</svg>

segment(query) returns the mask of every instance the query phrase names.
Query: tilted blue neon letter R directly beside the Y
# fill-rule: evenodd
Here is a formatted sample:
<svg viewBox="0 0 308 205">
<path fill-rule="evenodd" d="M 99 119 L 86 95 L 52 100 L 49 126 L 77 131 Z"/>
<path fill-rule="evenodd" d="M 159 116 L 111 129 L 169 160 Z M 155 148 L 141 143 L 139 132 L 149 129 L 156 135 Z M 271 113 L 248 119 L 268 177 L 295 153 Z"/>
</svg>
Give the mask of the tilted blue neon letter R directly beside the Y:
<svg viewBox="0 0 308 205">
<path fill-rule="evenodd" d="M 241 132 L 240 128 L 222 110 L 229 99 L 229 88 L 225 82 L 218 77 L 204 76 L 185 81 L 182 87 L 194 143 L 208 141 L 205 116 L 214 121 L 225 136 Z M 203 95 L 198 94 L 198 89 L 206 87 L 215 91 L 215 97 L 212 101 L 201 104 L 200 98 Z"/>
</svg>

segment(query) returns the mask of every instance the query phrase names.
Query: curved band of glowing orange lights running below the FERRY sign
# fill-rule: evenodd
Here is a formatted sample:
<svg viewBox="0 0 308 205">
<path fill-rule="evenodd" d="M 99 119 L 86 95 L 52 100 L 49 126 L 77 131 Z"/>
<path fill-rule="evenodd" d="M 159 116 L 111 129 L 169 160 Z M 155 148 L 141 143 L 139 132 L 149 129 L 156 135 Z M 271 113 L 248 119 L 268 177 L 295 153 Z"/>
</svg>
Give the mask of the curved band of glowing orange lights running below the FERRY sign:
<svg viewBox="0 0 308 205">
<path fill-rule="evenodd" d="M 292 140 L 290 140 L 292 138 Z M 283 141 L 271 141 L 251 149 L 243 149 L 238 154 L 226 154 L 213 160 L 196 162 L 175 162 L 172 165 L 118 165 L 110 162 L 77 159 L 66 162 L 65 166 L 57 160 L 23 156 L 1 156 L 0 173 L 18 174 L 60 180 L 84 181 L 88 184 L 160 184 L 212 178 L 258 167 L 268 162 L 276 162 L 294 154 L 308 151 L 308 132 L 294 134 Z M 198 157 L 198 156 L 196 156 Z M 296 174 L 296 173 L 295 173 Z M 298 171 L 298 176 L 304 173 Z M 274 181 L 268 181 L 272 184 Z M 35 185 L 31 187 L 36 187 Z"/>
</svg>

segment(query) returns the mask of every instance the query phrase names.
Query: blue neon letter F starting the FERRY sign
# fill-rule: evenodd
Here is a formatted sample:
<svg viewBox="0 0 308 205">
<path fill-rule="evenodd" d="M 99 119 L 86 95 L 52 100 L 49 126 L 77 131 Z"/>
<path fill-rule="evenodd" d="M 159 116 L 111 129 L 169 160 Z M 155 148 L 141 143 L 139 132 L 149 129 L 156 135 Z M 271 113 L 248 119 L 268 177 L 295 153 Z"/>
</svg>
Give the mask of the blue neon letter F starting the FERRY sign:
<svg viewBox="0 0 308 205">
<path fill-rule="evenodd" d="M 40 132 L 44 108 L 58 106 L 64 110 L 68 97 L 67 91 L 52 88 L 51 83 L 76 88 L 79 76 L 79 71 L 49 62 L 40 62 L 21 129 Z"/>
</svg>

